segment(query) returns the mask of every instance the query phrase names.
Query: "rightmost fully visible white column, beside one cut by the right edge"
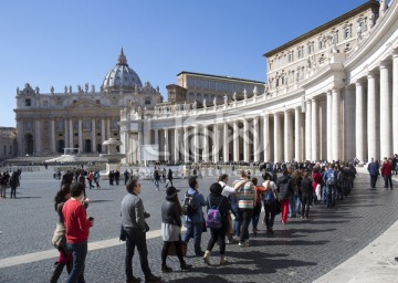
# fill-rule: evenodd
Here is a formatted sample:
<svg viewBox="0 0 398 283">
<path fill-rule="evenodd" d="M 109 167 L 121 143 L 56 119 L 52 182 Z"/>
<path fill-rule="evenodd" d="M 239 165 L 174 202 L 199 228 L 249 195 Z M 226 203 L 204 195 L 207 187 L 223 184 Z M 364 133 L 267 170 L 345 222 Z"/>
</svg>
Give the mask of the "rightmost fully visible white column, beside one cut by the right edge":
<svg viewBox="0 0 398 283">
<path fill-rule="evenodd" d="M 386 62 L 380 63 L 380 158 L 392 156 L 391 96 L 389 70 Z"/>
</svg>

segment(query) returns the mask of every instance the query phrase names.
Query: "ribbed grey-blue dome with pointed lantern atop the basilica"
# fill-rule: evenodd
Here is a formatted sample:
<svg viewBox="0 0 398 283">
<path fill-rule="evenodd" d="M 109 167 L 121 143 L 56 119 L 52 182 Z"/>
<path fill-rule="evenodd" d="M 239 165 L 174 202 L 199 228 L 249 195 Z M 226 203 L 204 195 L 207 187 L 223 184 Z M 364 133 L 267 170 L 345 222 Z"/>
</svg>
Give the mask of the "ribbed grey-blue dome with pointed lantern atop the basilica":
<svg viewBox="0 0 398 283">
<path fill-rule="evenodd" d="M 143 87 L 143 83 L 137 73 L 128 66 L 122 49 L 116 66 L 105 75 L 102 90 L 103 92 L 121 91 L 121 88 L 134 91 L 136 87 Z"/>
</svg>

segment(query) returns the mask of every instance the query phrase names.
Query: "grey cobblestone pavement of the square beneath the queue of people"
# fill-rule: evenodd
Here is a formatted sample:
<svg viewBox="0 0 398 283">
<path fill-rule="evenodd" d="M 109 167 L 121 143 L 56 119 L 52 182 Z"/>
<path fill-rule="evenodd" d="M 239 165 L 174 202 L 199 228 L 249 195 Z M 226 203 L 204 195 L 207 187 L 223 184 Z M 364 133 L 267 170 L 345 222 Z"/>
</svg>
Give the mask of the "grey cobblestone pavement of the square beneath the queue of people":
<svg viewBox="0 0 398 283">
<path fill-rule="evenodd" d="M 199 179 L 205 196 L 213 180 L 213 177 Z M 151 230 L 159 230 L 160 203 L 165 191 L 156 191 L 150 181 L 142 184 L 144 206 L 151 214 L 148 224 Z M 52 170 L 42 168 L 40 172 L 22 175 L 21 188 L 17 190 L 18 199 L 0 199 L 0 266 L 11 256 L 53 249 L 51 238 L 56 216 L 52 200 L 59 185 L 60 181 L 52 178 Z M 187 180 L 175 180 L 175 186 L 182 189 L 182 198 Z M 102 187 L 101 190 L 87 190 L 91 199 L 87 213 L 95 217 L 90 242 L 118 237 L 119 206 L 126 191 L 122 185 L 108 186 L 105 181 L 102 181 Z M 193 270 L 180 272 L 177 259 L 170 258 L 168 264 L 176 271 L 161 274 L 160 238 L 148 240 L 149 264 L 155 274 L 163 276 L 164 282 L 312 282 L 356 254 L 397 221 L 397 201 L 396 190 L 384 189 L 381 179 L 377 189 L 370 190 L 368 176 L 359 175 L 352 195 L 339 201 L 336 209 L 314 206 L 310 212 L 311 219 L 292 218 L 286 226 L 280 223 L 281 217 L 277 216 L 273 237 L 260 231 L 258 235 L 251 234 L 248 248 L 227 245 L 229 264 L 226 266 L 217 265 L 217 245 L 211 254 L 214 265 L 207 266 L 202 259 L 192 256 L 190 242 L 187 262 L 193 264 Z M 259 226 L 264 230 L 261 223 Z M 203 250 L 208 239 L 209 233 L 205 233 Z M 90 251 L 86 281 L 125 282 L 124 254 L 124 244 Z M 0 268 L 0 282 L 48 282 L 55 260 Z M 143 277 L 138 255 L 134 258 L 134 271 L 136 276 Z M 66 272 L 60 282 L 65 282 L 65 279 Z"/>
</svg>

